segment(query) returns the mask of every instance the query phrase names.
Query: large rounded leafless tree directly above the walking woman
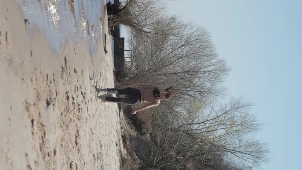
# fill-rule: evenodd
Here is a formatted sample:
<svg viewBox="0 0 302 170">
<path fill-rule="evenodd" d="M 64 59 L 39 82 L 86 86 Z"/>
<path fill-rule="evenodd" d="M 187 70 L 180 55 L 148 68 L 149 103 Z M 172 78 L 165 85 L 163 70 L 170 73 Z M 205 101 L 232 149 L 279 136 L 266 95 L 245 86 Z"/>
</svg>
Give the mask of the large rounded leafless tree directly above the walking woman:
<svg viewBox="0 0 302 170">
<path fill-rule="evenodd" d="M 162 16 L 150 32 L 131 33 L 132 64 L 118 86 L 174 86 L 173 98 L 183 104 L 223 94 L 228 68 L 204 28 Z"/>
</svg>

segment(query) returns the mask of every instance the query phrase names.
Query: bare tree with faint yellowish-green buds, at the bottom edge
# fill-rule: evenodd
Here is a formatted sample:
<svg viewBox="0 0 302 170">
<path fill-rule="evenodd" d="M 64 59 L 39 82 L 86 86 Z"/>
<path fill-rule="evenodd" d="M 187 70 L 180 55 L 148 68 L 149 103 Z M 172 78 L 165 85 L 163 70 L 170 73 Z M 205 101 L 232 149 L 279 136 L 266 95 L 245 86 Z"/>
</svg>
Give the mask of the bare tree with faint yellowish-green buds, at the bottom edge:
<svg viewBox="0 0 302 170">
<path fill-rule="evenodd" d="M 154 165 L 181 167 L 180 160 L 193 159 L 214 169 L 225 165 L 247 169 L 267 162 L 267 145 L 252 135 L 261 124 L 248 113 L 250 107 L 248 102 L 231 99 L 219 107 L 193 103 L 180 119 L 159 114 L 154 128 L 158 149 L 151 158 Z"/>
</svg>

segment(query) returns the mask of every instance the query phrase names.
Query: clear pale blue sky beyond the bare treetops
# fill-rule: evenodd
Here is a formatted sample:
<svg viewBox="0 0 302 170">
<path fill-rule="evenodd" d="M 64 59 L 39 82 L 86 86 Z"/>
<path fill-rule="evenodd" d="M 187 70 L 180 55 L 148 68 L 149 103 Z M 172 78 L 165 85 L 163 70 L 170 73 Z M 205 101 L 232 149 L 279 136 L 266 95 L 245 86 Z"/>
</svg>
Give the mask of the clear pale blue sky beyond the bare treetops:
<svg viewBox="0 0 302 170">
<path fill-rule="evenodd" d="M 258 138 L 272 160 L 263 169 L 298 168 L 301 142 L 302 1 L 169 1 L 169 12 L 205 27 L 232 68 L 229 96 L 255 103 Z"/>
</svg>

